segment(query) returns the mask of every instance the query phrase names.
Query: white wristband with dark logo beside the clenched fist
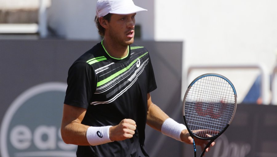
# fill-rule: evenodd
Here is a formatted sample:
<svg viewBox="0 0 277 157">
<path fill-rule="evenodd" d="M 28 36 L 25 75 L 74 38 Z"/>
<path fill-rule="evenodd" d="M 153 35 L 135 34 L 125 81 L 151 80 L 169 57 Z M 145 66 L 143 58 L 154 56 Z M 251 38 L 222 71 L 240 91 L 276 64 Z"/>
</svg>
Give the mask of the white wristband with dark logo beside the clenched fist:
<svg viewBox="0 0 277 157">
<path fill-rule="evenodd" d="M 110 140 L 109 130 L 111 126 L 89 127 L 86 131 L 86 139 L 92 146 L 113 142 Z"/>
</svg>

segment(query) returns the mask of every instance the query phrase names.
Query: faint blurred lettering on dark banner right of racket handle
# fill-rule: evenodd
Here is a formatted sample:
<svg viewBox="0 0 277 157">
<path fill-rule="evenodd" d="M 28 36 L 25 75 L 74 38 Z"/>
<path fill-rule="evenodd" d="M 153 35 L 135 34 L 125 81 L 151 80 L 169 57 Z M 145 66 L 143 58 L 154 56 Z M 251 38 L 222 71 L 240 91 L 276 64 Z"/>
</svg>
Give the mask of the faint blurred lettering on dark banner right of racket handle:
<svg viewBox="0 0 277 157">
<path fill-rule="evenodd" d="M 223 149 L 223 151 L 220 151 Z M 213 157 L 245 157 L 251 150 L 249 143 L 229 143 L 225 135 L 216 139 Z M 221 152 L 221 154 L 220 154 Z"/>
</svg>

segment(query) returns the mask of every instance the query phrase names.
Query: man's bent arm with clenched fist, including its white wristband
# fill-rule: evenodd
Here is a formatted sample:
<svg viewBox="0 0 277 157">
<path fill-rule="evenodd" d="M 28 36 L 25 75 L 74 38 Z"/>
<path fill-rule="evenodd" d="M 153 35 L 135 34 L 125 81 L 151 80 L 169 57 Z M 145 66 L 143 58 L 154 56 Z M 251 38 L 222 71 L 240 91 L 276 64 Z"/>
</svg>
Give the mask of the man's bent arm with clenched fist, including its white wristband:
<svg viewBox="0 0 277 157">
<path fill-rule="evenodd" d="M 95 146 L 112 141 L 121 141 L 132 138 L 136 124 L 132 119 L 123 119 L 116 126 L 94 127 L 86 126 L 81 122 L 86 114 L 86 109 L 64 104 L 61 135 L 67 144 L 81 146 Z"/>
</svg>

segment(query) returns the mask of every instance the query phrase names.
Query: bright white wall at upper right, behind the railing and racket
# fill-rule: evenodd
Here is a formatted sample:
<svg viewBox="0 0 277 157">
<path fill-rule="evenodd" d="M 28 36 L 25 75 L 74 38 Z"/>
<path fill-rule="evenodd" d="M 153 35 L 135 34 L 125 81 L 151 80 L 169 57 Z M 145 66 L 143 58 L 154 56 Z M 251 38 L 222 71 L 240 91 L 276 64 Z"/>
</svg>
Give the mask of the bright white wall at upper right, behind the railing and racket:
<svg viewBox="0 0 277 157">
<path fill-rule="evenodd" d="M 275 0 L 156 0 L 155 40 L 185 42 L 184 72 L 191 65 L 219 64 L 263 64 L 272 71 L 277 48 L 276 6 Z M 220 73 L 235 84 L 240 101 L 258 74 L 253 70 Z"/>
</svg>

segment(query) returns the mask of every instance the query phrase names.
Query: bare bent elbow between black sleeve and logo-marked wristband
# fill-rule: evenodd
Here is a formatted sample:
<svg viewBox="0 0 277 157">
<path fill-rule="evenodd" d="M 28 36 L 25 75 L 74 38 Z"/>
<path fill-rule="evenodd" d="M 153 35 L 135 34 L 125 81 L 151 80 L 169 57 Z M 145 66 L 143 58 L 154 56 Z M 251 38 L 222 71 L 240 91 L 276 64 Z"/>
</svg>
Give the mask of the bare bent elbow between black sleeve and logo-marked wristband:
<svg viewBox="0 0 277 157">
<path fill-rule="evenodd" d="M 81 124 L 85 114 L 85 108 L 63 105 L 61 134 L 65 143 L 90 145 L 86 139 L 86 131 L 89 126 Z"/>
</svg>

